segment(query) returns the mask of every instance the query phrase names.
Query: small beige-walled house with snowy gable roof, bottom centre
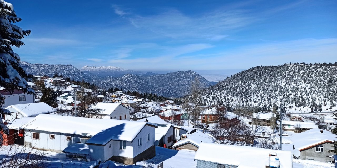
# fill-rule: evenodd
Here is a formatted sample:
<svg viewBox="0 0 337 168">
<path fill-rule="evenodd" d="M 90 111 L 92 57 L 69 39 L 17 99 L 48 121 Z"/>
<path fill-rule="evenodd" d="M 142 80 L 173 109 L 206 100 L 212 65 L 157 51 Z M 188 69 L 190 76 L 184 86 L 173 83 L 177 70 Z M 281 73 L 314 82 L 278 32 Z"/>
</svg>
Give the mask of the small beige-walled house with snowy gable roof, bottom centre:
<svg viewBox="0 0 337 168">
<path fill-rule="evenodd" d="M 197 151 L 201 142 L 214 143 L 215 140 L 202 132 L 183 134 L 181 140 L 176 142 L 172 148 L 176 150 L 188 149 Z"/>
</svg>

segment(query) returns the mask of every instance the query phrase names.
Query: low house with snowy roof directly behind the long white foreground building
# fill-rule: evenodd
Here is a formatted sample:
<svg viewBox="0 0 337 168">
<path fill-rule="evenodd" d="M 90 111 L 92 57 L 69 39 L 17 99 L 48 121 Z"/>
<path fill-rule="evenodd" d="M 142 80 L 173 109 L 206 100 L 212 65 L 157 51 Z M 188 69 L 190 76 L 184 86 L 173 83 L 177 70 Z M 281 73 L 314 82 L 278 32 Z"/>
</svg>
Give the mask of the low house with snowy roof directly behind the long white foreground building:
<svg viewBox="0 0 337 168">
<path fill-rule="evenodd" d="M 5 115 L 4 120 L 13 120 L 19 117 L 35 117 L 39 114 L 50 114 L 56 112 L 56 109 L 44 102 L 15 104 L 5 108 L 11 115 Z"/>
</svg>

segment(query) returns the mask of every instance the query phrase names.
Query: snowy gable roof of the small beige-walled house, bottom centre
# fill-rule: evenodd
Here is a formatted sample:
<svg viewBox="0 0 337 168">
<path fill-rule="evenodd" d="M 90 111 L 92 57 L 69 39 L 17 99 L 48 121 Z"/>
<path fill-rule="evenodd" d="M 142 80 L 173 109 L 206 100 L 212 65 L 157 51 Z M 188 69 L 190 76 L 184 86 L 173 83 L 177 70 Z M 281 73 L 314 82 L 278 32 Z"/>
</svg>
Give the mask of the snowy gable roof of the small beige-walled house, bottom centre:
<svg viewBox="0 0 337 168">
<path fill-rule="evenodd" d="M 191 143 L 197 148 L 199 148 L 201 142 L 214 143 L 214 141 L 215 140 L 212 137 L 204 134 L 203 132 L 194 132 L 192 134 L 188 134 L 186 139 L 178 141 L 172 147 L 177 147 L 183 144 Z"/>
</svg>

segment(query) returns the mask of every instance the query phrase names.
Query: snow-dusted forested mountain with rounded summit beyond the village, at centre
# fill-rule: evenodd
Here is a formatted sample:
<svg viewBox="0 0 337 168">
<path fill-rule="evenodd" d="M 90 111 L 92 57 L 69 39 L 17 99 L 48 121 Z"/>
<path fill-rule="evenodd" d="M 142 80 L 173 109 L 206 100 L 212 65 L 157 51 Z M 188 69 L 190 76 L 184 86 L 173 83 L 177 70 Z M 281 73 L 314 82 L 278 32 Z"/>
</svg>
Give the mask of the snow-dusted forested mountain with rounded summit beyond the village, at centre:
<svg viewBox="0 0 337 168">
<path fill-rule="evenodd" d="M 149 75 L 149 74 L 147 74 Z M 178 71 L 167 74 L 149 76 L 126 74 L 113 78 L 106 76 L 93 82 L 103 88 L 123 88 L 139 92 L 152 92 L 167 97 L 180 97 L 190 92 L 190 85 L 194 78 L 198 78 L 202 88 L 208 88 L 213 83 L 193 71 Z"/>
</svg>

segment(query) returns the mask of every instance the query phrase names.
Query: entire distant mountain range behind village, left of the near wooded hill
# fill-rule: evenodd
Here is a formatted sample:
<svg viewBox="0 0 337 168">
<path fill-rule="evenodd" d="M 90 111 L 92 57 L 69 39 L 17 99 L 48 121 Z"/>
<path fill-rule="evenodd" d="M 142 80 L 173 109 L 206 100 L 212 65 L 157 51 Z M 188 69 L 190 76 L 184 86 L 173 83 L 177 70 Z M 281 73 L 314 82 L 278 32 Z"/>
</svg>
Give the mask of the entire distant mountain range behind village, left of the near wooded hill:
<svg viewBox="0 0 337 168">
<path fill-rule="evenodd" d="M 146 74 L 140 74 L 138 71 L 118 67 L 85 66 L 81 69 L 83 71 L 81 72 L 70 64 L 49 65 L 21 62 L 21 65 L 28 73 L 33 75 L 48 75 L 52 77 L 55 73 L 58 73 L 76 81 L 84 79 L 87 82 L 94 83 L 105 89 L 118 87 L 123 90 L 157 93 L 158 95 L 166 97 L 181 97 L 188 94 L 190 92 L 191 82 L 194 78 L 200 80 L 203 89 L 214 85 L 214 82 L 209 82 L 193 71 L 178 71 L 167 74 L 148 72 Z"/>
</svg>

